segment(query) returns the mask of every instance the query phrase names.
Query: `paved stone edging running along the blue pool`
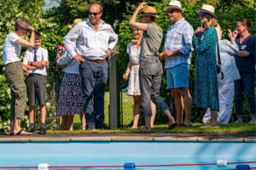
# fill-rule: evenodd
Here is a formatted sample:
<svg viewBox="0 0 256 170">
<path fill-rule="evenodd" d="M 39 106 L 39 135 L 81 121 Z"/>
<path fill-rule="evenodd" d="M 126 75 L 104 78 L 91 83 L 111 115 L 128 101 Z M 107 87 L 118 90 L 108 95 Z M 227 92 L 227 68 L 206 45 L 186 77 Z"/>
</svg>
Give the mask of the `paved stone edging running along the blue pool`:
<svg viewBox="0 0 256 170">
<path fill-rule="evenodd" d="M 0 143 L 35 142 L 246 142 L 256 143 L 256 133 L 58 133 L 28 136 L 0 135 Z"/>
</svg>

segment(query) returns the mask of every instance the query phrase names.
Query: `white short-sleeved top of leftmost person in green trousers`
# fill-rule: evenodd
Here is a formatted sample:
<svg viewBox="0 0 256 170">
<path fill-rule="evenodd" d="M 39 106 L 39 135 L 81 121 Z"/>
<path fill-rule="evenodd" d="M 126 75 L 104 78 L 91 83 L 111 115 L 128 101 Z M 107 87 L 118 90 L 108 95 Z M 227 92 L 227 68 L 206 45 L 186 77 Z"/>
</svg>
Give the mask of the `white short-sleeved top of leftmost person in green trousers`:
<svg viewBox="0 0 256 170">
<path fill-rule="evenodd" d="M 9 33 L 3 42 L 3 65 L 20 61 L 20 45 L 15 43 L 20 37 L 14 32 Z"/>
</svg>

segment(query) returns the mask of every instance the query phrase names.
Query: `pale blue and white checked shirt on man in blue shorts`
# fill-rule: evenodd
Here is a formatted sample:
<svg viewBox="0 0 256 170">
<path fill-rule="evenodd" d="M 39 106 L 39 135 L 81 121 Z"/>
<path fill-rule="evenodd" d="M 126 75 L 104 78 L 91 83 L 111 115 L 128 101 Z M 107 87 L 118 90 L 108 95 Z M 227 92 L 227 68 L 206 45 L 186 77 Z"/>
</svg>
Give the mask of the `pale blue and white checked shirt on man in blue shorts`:
<svg viewBox="0 0 256 170">
<path fill-rule="evenodd" d="M 188 63 L 192 52 L 193 27 L 182 18 L 170 26 L 166 33 L 165 47 L 163 51 L 179 49 L 182 54 L 176 54 L 165 59 L 165 68 L 170 68 L 182 63 Z"/>
</svg>

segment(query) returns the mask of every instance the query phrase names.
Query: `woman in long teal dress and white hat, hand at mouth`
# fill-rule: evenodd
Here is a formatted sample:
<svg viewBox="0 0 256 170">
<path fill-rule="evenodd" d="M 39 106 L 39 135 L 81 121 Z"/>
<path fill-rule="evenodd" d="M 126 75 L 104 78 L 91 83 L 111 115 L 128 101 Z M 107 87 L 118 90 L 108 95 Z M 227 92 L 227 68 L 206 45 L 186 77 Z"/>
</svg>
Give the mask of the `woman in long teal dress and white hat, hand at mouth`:
<svg viewBox="0 0 256 170">
<path fill-rule="evenodd" d="M 211 110 L 211 120 L 202 128 L 218 127 L 218 79 L 217 79 L 217 54 L 218 42 L 217 17 L 211 5 L 204 4 L 201 10 L 196 11 L 201 20 L 201 27 L 195 30 L 193 46 L 196 52 L 195 65 L 195 97 L 197 107 Z"/>
</svg>

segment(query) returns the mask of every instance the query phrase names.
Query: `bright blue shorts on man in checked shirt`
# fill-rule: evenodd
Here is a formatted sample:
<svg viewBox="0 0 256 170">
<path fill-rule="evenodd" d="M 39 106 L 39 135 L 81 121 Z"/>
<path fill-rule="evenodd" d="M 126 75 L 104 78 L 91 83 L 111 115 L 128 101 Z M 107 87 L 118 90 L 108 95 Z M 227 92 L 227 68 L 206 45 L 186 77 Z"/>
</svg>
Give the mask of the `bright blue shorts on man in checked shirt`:
<svg viewBox="0 0 256 170">
<path fill-rule="evenodd" d="M 186 63 L 166 69 L 167 88 L 189 88 L 189 66 Z"/>
</svg>

